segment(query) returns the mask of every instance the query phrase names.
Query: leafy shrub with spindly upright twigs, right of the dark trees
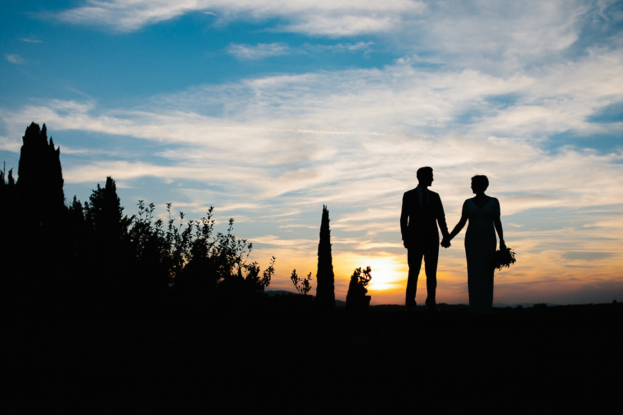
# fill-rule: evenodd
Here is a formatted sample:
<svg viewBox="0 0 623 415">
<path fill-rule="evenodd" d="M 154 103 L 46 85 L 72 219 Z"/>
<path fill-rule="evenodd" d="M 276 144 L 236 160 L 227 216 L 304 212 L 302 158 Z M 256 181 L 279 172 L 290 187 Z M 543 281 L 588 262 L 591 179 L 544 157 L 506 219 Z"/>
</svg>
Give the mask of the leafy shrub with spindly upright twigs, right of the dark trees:
<svg viewBox="0 0 623 415">
<path fill-rule="evenodd" d="M 171 288 L 181 302 L 193 310 L 207 301 L 226 299 L 235 301 L 264 293 L 275 272 L 275 258 L 262 272 L 257 262 L 248 264 L 253 249 L 245 239 L 233 234 L 233 219 L 229 219 L 226 233 L 214 233 L 213 211 L 199 221 L 172 219 L 171 204 L 167 204 L 169 220 L 154 221 L 154 205 L 138 201 L 138 214 L 129 230 L 137 269 L 142 270 L 142 285 L 151 290 Z"/>
</svg>

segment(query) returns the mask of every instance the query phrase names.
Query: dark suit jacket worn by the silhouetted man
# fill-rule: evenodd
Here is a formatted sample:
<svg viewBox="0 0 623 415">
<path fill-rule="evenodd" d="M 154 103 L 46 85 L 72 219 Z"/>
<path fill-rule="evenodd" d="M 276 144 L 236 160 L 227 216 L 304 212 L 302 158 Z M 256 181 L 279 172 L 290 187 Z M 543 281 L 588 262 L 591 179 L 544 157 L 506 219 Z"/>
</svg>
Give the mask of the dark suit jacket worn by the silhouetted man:
<svg viewBox="0 0 623 415">
<path fill-rule="evenodd" d="M 426 189 L 428 192 L 428 208 L 422 210 L 417 194 L 417 187 L 405 192 L 402 196 L 402 212 L 400 214 L 400 232 L 402 240 L 410 246 L 439 246 L 439 232 L 448 234 L 446 215 L 439 194 Z"/>
</svg>

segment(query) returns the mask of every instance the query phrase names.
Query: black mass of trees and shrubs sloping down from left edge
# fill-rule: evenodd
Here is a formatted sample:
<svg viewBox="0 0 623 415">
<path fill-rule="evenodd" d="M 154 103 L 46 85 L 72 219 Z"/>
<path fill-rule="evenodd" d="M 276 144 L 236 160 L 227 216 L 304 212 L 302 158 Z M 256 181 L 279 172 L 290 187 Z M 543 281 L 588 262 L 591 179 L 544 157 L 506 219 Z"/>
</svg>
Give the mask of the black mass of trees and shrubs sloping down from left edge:
<svg viewBox="0 0 623 415">
<path fill-rule="evenodd" d="M 215 232 L 213 208 L 186 221 L 168 204 L 165 222 L 144 201 L 127 216 L 111 177 L 88 201 L 66 204 L 46 125 L 33 122 L 23 140 L 17 179 L 0 173 L 3 312 L 199 312 L 249 304 L 270 284 L 275 259 L 263 271 L 250 263 L 252 245 L 235 237 L 233 219 Z"/>
</svg>

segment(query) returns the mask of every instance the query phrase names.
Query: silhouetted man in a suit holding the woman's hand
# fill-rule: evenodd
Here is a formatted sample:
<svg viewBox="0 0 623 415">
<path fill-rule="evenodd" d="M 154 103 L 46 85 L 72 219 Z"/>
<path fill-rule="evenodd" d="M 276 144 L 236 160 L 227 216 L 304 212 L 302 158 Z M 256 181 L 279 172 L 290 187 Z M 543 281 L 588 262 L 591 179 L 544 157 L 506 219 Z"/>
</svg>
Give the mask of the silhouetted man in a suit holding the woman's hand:
<svg viewBox="0 0 623 415">
<path fill-rule="evenodd" d="M 404 247 L 407 248 L 409 266 L 405 304 L 408 309 L 415 307 L 417 277 L 424 259 L 426 306 L 429 311 L 434 311 L 437 309 L 435 294 L 440 245 L 437 224 L 446 240 L 449 236 L 448 225 L 439 194 L 427 189 L 433 184 L 433 169 L 431 167 L 417 169 L 417 182 L 415 189 L 405 192 L 402 196 L 400 214 L 400 232 Z M 444 243 L 445 248 L 448 246 L 449 243 Z"/>
</svg>

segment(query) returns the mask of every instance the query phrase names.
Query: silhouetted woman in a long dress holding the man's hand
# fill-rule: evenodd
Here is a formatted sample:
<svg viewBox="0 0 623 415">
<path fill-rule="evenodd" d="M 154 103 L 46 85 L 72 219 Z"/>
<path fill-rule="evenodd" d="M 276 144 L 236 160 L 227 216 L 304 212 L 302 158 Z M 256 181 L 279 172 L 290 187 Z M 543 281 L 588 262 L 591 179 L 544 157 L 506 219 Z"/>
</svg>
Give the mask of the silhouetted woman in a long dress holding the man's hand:
<svg viewBox="0 0 623 415">
<path fill-rule="evenodd" d="M 496 252 L 496 231 L 500 237 L 500 250 L 506 248 L 500 221 L 500 202 L 487 196 L 489 187 L 487 176 L 476 175 L 471 178 L 471 190 L 476 196 L 463 203 L 461 219 L 442 246 L 450 246 L 450 241 L 467 225 L 465 232 L 465 256 L 467 257 L 467 289 L 469 291 L 469 310 L 471 313 L 490 313 L 493 307 L 494 261 Z"/>
</svg>

